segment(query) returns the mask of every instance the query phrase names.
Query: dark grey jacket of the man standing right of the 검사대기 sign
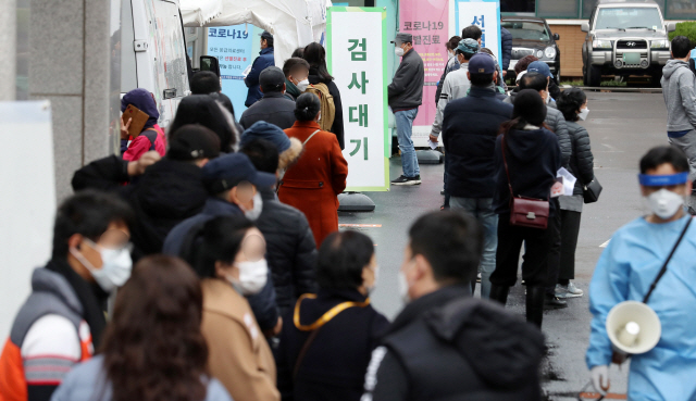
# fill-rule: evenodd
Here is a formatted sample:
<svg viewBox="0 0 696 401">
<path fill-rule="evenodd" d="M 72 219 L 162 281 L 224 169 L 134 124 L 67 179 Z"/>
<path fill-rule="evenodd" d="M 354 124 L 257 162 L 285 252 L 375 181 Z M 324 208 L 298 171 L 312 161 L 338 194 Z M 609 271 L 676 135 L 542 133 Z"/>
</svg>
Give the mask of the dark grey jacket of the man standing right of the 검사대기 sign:
<svg viewBox="0 0 696 401">
<path fill-rule="evenodd" d="M 425 67 L 423 59 L 411 49 L 403 54 L 391 84 L 387 87 L 393 111 L 415 109 L 423 103 Z"/>
</svg>

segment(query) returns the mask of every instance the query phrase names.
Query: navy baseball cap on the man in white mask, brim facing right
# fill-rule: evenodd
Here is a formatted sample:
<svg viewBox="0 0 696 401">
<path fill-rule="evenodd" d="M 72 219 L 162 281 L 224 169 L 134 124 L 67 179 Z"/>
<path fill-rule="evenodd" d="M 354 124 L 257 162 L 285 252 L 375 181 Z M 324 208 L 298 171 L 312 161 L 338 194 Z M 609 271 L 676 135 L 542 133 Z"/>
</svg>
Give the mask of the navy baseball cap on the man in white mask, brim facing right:
<svg viewBox="0 0 696 401">
<path fill-rule="evenodd" d="M 241 181 L 249 181 L 256 187 L 270 187 L 275 184 L 275 175 L 258 172 L 244 153 L 229 153 L 203 166 L 203 181 L 211 193 L 217 195 Z"/>
</svg>

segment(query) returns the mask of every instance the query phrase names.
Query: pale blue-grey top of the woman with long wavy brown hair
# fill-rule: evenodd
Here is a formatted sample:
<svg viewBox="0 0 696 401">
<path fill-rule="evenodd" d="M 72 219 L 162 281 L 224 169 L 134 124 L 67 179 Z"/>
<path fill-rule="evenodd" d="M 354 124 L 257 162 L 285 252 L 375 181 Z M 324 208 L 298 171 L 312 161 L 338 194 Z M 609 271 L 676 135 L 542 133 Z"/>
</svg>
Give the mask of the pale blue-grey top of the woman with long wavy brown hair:
<svg viewBox="0 0 696 401">
<path fill-rule="evenodd" d="M 97 355 L 75 366 L 53 392 L 51 401 L 111 401 L 111 385 L 104 385 L 103 362 L 103 355 Z M 211 378 L 204 401 L 233 400 L 222 384 Z"/>
</svg>

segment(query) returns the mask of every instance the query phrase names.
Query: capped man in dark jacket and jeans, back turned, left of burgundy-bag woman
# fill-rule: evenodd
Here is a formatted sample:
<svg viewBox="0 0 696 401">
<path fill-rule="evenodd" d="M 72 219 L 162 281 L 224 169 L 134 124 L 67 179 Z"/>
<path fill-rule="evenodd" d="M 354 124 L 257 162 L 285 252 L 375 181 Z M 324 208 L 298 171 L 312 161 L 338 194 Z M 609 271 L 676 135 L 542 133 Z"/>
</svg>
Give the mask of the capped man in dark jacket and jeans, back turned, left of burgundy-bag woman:
<svg viewBox="0 0 696 401">
<path fill-rule="evenodd" d="M 512 117 L 512 105 L 501 102 L 492 89 L 498 75 L 493 58 L 475 54 L 468 68 L 469 96 L 449 102 L 444 112 L 445 170 L 449 206 L 465 211 L 484 227 L 481 295 L 488 298 L 498 243 L 498 215 L 493 210 L 494 152 L 500 124 Z"/>
</svg>

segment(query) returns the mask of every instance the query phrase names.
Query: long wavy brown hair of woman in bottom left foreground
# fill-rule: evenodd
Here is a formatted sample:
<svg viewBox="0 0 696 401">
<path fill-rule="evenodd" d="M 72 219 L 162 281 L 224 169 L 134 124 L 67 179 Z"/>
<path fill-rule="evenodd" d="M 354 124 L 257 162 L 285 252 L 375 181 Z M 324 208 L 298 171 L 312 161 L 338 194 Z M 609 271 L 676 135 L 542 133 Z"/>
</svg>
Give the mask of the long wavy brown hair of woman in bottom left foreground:
<svg viewBox="0 0 696 401">
<path fill-rule="evenodd" d="M 203 400 L 201 316 L 200 283 L 188 264 L 163 255 L 138 262 L 119 290 L 100 350 L 112 400 Z"/>
</svg>

